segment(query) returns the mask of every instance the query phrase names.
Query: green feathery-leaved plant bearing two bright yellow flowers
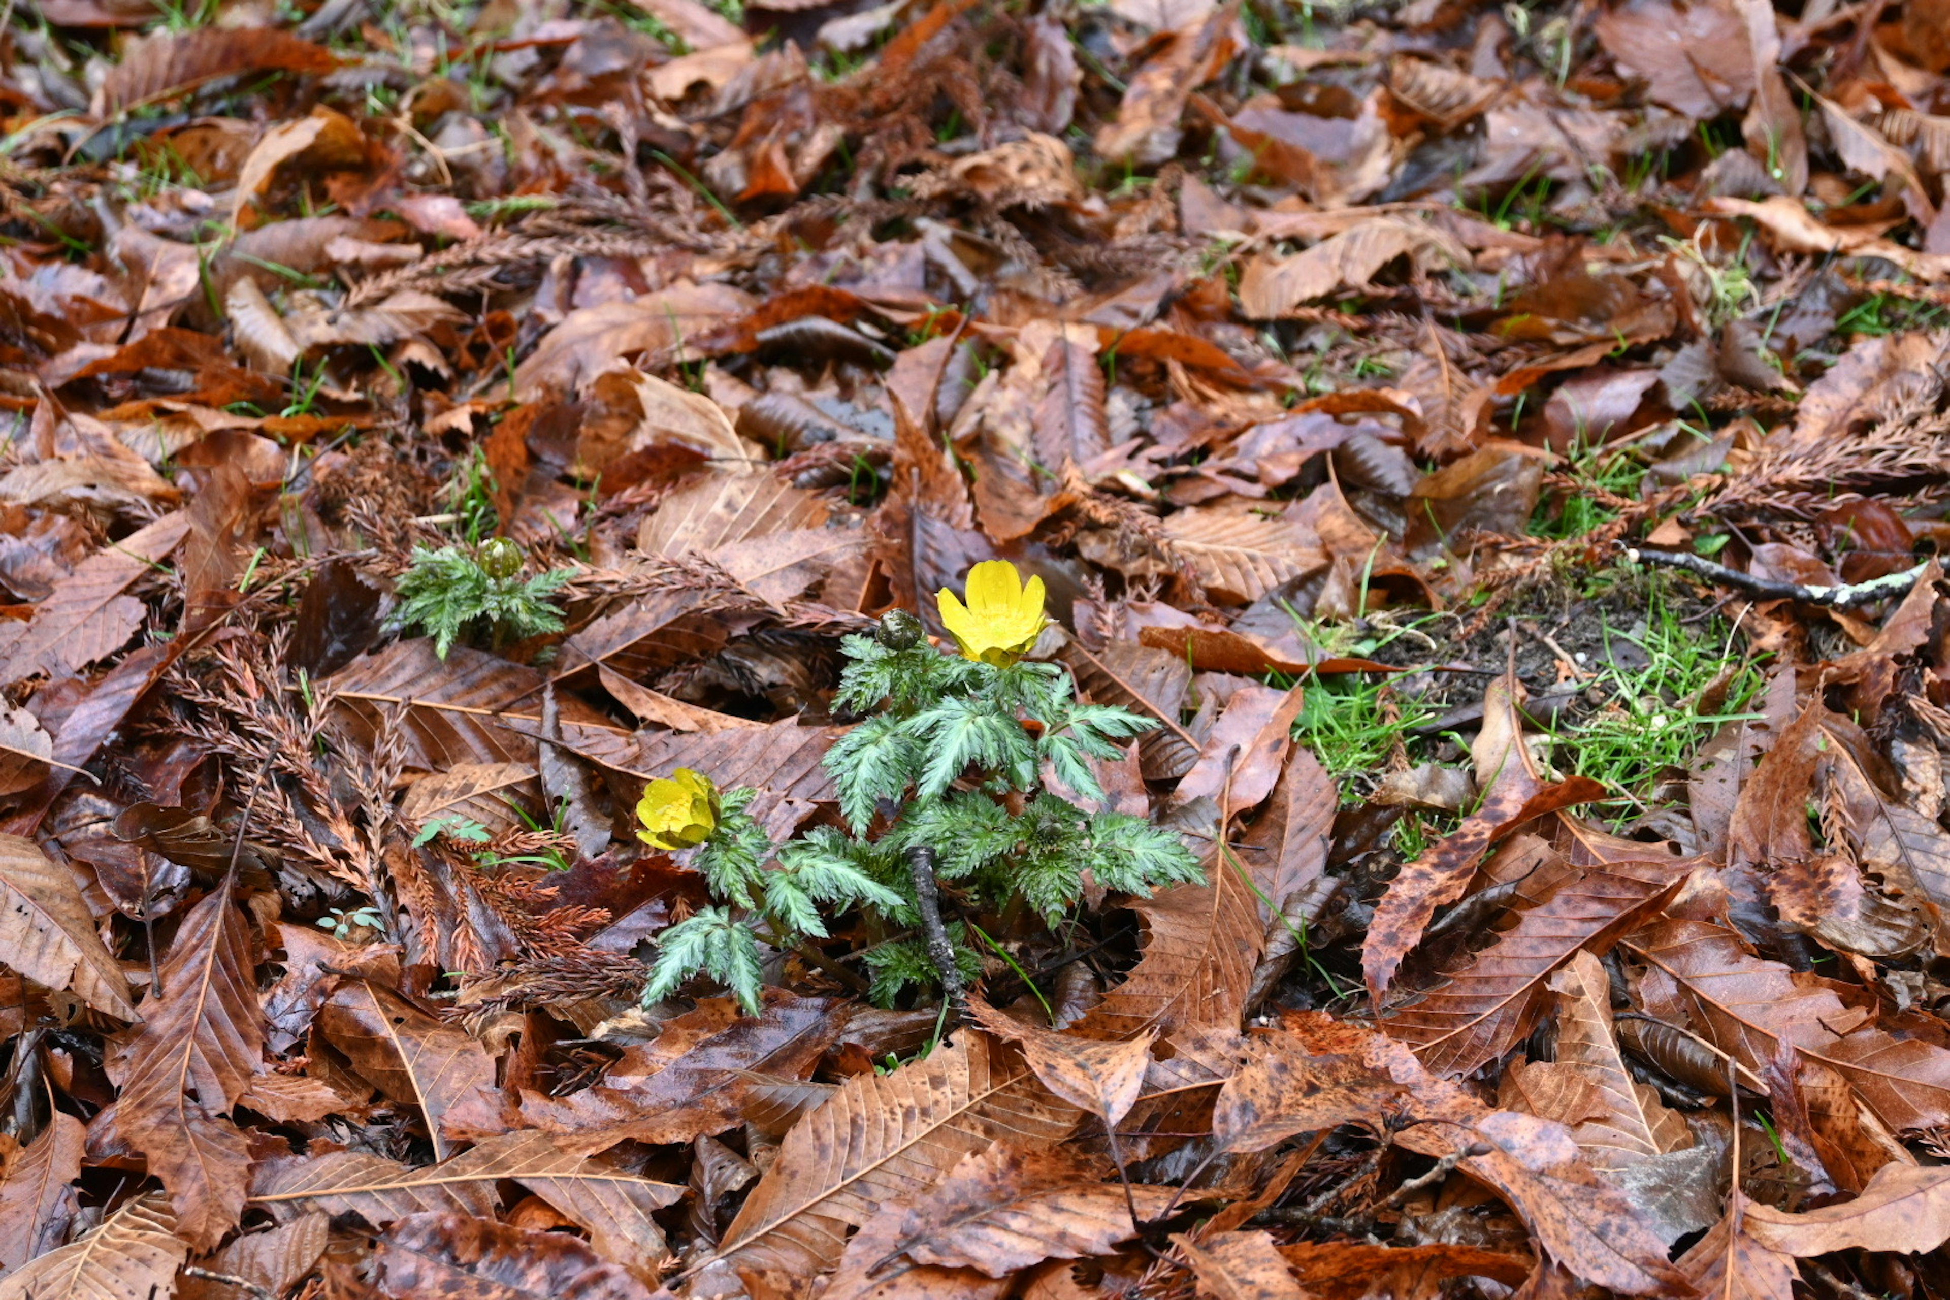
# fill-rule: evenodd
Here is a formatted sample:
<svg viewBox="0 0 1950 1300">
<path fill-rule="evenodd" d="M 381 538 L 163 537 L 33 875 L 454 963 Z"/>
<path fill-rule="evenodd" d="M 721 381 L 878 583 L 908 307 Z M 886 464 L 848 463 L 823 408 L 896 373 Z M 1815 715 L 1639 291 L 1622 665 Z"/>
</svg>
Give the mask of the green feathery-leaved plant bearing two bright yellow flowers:
<svg viewBox="0 0 1950 1300">
<path fill-rule="evenodd" d="M 757 1010 L 760 937 L 776 947 L 825 937 L 821 904 L 829 914 L 862 908 L 878 934 L 913 934 L 924 926 L 916 854 L 971 914 L 1016 918 L 1028 908 L 1045 924 L 1076 904 L 1086 871 L 1104 889 L 1143 897 L 1201 879 L 1176 834 L 1072 801 L 1104 801 L 1088 760 L 1115 758 L 1156 723 L 1080 704 L 1061 665 L 1022 659 L 1045 626 L 1041 579 L 1024 587 L 1014 565 L 987 561 L 969 573 L 967 596 L 965 606 L 940 596 L 959 655 L 928 645 L 905 612 L 872 637 L 842 641 L 850 663 L 835 707 L 868 713 L 825 760 L 844 826 L 817 826 L 774 852 L 747 813 L 753 791 L 720 795 L 696 772 L 651 782 L 638 805 L 640 836 L 692 852 L 720 906 L 663 932 L 647 1000 L 702 971 Z M 979 973 L 969 928 L 946 932 L 963 978 Z M 881 1004 L 940 978 L 924 939 L 881 941 L 866 967 Z"/>
</svg>

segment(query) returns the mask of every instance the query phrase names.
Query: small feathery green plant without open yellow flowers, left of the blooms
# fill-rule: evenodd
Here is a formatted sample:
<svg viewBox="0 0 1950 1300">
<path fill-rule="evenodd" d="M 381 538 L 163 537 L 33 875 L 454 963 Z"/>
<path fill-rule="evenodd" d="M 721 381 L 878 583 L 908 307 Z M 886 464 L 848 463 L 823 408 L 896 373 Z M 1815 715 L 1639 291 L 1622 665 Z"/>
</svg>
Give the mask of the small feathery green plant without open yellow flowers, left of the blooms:
<svg viewBox="0 0 1950 1300">
<path fill-rule="evenodd" d="M 433 653 L 447 659 L 462 633 L 489 631 L 501 647 L 521 637 L 562 631 L 562 614 L 548 598 L 567 583 L 569 569 L 525 579 L 526 557 L 507 538 L 480 548 L 413 548 L 413 567 L 400 579 L 396 628 L 423 628 Z"/>
</svg>

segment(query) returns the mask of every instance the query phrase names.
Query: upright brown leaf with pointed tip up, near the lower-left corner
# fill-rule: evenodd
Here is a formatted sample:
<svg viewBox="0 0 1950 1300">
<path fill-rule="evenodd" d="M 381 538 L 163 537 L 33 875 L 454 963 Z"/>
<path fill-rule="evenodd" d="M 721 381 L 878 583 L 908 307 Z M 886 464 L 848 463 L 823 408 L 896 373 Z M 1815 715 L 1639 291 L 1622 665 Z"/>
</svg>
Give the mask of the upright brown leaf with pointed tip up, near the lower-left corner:
<svg viewBox="0 0 1950 1300">
<path fill-rule="evenodd" d="M 115 1130 L 148 1158 L 176 1232 L 214 1249 L 244 1214 L 250 1140 L 224 1115 L 263 1068 L 255 941 L 230 883 L 191 908 L 119 1068 Z"/>
</svg>

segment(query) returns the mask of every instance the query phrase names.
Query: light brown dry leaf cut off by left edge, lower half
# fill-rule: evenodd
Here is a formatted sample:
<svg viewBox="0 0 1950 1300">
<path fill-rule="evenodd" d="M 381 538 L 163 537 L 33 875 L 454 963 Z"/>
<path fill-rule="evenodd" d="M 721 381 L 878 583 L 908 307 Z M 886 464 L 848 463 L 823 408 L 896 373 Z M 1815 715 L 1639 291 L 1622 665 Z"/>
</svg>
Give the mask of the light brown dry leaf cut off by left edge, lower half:
<svg viewBox="0 0 1950 1300">
<path fill-rule="evenodd" d="M 0 951 L 33 982 L 136 1019 L 129 976 L 96 934 L 80 885 L 33 840 L 12 834 L 0 834 Z"/>
</svg>

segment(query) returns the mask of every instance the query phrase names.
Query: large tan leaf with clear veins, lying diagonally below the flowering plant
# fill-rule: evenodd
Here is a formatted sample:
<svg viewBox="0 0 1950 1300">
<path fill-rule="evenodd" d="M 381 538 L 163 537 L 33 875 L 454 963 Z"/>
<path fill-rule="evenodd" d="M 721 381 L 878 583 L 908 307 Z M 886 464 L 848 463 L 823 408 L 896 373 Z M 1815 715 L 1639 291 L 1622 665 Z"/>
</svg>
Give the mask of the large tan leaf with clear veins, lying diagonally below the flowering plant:
<svg viewBox="0 0 1950 1300">
<path fill-rule="evenodd" d="M 1010 1051 L 963 1029 L 891 1074 L 856 1074 L 801 1119 L 718 1257 L 809 1277 L 838 1261 L 848 1224 L 932 1187 L 961 1156 L 1000 1140 L 1057 1142 L 1074 1123 Z"/>
</svg>

